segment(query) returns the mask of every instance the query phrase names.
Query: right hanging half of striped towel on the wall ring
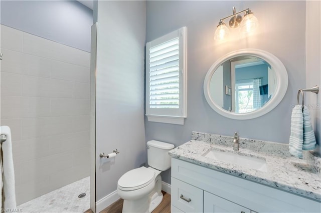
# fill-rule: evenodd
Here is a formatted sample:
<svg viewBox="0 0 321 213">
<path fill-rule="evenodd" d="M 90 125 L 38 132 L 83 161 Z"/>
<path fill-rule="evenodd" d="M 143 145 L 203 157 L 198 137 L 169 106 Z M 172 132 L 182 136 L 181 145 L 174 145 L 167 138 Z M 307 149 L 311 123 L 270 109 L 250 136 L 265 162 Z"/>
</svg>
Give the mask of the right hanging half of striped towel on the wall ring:
<svg viewBox="0 0 321 213">
<path fill-rule="evenodd" d="M 303 106 L 303 150 L 313 150 L 316 145 L 309 109 Z"/>
</svg>

